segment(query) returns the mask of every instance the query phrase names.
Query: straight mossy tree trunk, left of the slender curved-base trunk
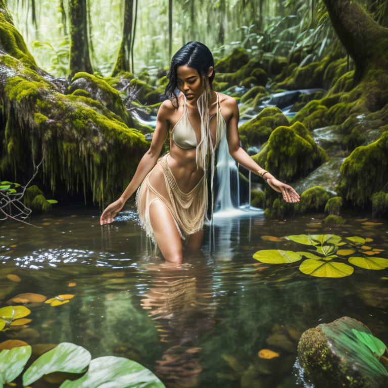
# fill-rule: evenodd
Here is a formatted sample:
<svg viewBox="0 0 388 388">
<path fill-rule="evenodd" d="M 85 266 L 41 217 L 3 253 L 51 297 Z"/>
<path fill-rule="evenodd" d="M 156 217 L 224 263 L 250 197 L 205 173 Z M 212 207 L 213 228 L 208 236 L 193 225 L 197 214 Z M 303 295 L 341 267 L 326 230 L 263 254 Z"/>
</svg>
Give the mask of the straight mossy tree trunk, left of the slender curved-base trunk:
<svg viewBox="0 0 388 388">
<path fill-rule="evenodd" d="M 87 39 L 86 0 L 69 0 L 70 78 L 79 71 L 93 74 Z"/>
</svg>

